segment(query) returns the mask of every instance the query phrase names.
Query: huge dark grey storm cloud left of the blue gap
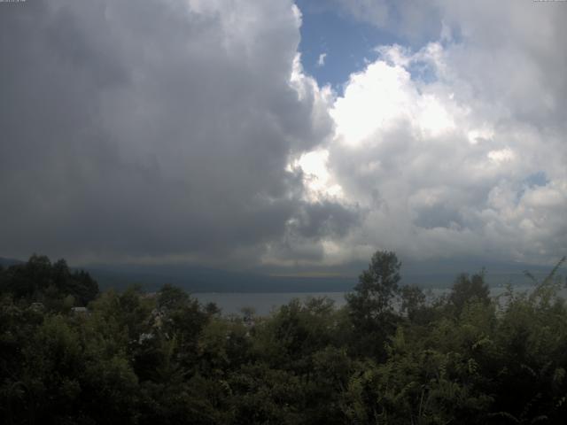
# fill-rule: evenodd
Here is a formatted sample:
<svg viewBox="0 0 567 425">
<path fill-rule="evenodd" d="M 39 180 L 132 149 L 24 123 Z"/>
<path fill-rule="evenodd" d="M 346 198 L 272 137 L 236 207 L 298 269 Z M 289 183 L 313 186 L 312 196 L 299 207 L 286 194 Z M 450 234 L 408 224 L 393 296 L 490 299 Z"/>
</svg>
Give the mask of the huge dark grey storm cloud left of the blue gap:
<svg viewBox="0 0 567 425">
<path fill-rule="evenodd" d="M 288 166 L 333 126 L 291 2 L 2 6 L 3 255 L 251 261 L 356 221 Z"/>
</svg>

